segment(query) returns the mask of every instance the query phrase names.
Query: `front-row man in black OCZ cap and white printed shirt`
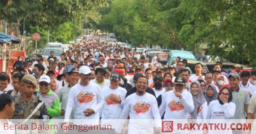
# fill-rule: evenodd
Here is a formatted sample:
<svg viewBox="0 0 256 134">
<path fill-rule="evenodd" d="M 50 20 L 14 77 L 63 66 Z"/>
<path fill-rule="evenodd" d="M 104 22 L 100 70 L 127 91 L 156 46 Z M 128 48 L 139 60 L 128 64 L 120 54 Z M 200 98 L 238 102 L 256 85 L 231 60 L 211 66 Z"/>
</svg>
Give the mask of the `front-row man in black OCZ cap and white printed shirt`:
<svg viewBox="0 0 256 134">
<path fill-rule="evenodd" d="M 111 134 L 114 134 L 114 128 L 116 128 L 117 122 L 115 120 L 111 121 L 109 119 L 120 118 L 125 101 L 125 94 L 127 93 L 125 88 L 119 86 L 120 81 L 120 74 L 118 72 L 113 72 L 110 77 L 110 86 L 102 88 L 104 104 L 102 107 L 101 125 L 111 124 L 113 128 L 112 130 L 109 130 L 109 133 Z M 104 130 L 104 132 L 107 131 L 108 130 Z"/>
</svg>

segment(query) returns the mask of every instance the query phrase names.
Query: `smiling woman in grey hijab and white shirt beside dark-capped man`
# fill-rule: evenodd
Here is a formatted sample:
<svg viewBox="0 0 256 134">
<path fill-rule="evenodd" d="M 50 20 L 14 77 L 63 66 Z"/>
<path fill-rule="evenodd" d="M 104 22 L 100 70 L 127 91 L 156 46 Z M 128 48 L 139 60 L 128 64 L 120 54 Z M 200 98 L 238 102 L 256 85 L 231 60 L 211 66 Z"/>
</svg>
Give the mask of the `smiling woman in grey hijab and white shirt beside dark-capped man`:
<svg viewBox="0 0 256 134">
<path fill-rule="evenodd" d="M 198 81 L 192 82 L 190 84 L 190 90 L 193 97 L 195 109 L 191 113 L 191 117 L 189 117 L 189 119 L 205 119 L 207 115 L 208 105 L 201 90 L 200 83 Z M 196 123 L 202 123 L 202 120 L 196 120 Z M 189 131 L 189 134 L 203 134 L 203 130 L 200 129 Z"/>
</svg>

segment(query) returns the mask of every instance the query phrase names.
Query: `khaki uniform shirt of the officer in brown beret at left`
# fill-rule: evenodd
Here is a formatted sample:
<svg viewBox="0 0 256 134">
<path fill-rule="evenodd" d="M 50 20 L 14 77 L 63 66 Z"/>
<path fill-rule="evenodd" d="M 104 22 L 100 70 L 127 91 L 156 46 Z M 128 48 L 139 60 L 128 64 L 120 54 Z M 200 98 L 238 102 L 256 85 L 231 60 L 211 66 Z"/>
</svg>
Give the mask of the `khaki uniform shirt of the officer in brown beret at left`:
<svg viewBox="0 0 256 134">
<path fill-rule="evenodd" d="M 15 112 L 12 119 L 26 119 L 36 108 L 41 99 L 36 97 L 34 94 L 31 99 L 26 102 L 23 100 L 22 94 L 18 94 L 15 97 Z M 35 112 L 30 119 L 40 119 L 40 115 L 44 114 L 44 104 Z M 46 114 L 46 113 L 45 113 Z"/>
</svg>

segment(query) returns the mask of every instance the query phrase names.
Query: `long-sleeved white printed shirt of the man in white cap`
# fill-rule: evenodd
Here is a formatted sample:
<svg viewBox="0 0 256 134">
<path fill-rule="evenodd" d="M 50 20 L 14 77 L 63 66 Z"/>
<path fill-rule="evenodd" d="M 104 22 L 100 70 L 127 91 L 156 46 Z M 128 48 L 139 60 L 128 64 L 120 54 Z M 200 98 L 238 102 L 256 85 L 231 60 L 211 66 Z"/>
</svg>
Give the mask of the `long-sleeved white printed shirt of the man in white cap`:
<svg viewBox="0 0 256 134">
<path fill-rule="evenodd" d="M 69 122 L 73 103 L 75 103 L 75 119 L 93 119 L 90 120 L 92 124 L 99 124 L 99 110 L 100 108 L 102 108 L 104 103 L 100 90 L 100 87 L 96 83 L 92 82 L 90 82 L 87 86 L 81 86 L 80 83 L 77 83 L 75 86 L 73 86 L 70 89 L 70 93 L 68 96 L 64 122 Z M 85 116 L 84 111 L 87 108 L 93 109 L 95 113 L 90 115 L 89 117 Z M 75 120 L 74 124 L 82 124 L 79 121 Z M 86 124 L 88 124 L 88 121 L 85 122 Z"/>
</svg>

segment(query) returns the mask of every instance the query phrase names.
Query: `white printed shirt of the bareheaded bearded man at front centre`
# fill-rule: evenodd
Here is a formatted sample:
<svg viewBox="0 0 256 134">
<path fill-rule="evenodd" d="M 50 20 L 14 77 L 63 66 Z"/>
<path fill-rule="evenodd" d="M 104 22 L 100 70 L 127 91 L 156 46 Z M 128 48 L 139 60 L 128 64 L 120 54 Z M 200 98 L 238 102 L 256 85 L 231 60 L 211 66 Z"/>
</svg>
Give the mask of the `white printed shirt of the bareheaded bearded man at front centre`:
<svg viewBox="0 0 256 134">
<path fill-rule="evenodd" d="M 154 123 L 156 127 L 161 126 L 157 100 L 152 94 L 145 93 L 140 96 L 134 93 L 129 95 L 125 99 L 120 119 L 126 119 L 128 115 L 130 116 L 128 125 L 129 134 L 153 134 Z M 134 119 L 140 119 L 140 121 Z M 151 120 L 143 122 L 143 119 L 154 119 L 155 122 L 152 123 Z M 122 126 L 123 123 L 119 123 L 116 127 L 116 132 L 120 133 Z"/>
</svg>

